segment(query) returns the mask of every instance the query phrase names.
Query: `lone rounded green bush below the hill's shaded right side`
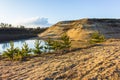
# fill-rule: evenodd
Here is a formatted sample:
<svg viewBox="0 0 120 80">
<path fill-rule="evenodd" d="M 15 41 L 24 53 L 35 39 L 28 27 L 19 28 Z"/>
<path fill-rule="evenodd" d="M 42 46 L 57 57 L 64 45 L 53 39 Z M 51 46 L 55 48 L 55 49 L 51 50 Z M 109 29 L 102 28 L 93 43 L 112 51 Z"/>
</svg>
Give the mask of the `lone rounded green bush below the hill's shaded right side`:
<svg viewBox="0 0 120 80">
<path fill-rule="evenodd" d="M 92 33 L 91 39 L 89 42 L 91 44 L 95 44 L 95 43 L 100 43 L 100 42 L 104 42 L 104 41 L 105 41 L 104 35 L 100 34 L 99 32 L 95 32 L 95 33 Z"/>
</svg>

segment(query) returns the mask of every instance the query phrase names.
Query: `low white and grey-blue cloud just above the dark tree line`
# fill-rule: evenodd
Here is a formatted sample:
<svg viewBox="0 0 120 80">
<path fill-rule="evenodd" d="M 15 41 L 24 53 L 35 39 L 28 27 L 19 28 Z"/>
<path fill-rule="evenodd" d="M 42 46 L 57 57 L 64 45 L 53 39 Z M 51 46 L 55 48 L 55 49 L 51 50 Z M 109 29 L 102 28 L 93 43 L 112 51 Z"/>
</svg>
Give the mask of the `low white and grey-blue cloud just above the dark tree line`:
<svg viewBox="0 0 120 80">
<path fill-rule="evenodd" d="M 49 27 L 51 24 L 48 22 L 48 18 L 44 17 L 33 17 L 33 18 L 22 18 L 17 22 L 14 22 L 15 25 L 24 25 L 26 27 Z"/>
</svg>

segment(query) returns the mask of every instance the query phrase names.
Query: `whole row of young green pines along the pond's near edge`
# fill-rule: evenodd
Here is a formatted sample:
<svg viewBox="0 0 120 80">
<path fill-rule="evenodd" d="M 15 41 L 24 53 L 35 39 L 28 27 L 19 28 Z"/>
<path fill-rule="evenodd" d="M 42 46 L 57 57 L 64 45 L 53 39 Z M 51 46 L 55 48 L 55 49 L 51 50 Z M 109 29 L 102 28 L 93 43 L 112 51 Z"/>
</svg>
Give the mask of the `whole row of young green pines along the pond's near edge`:
<svg viewBox="0 0 120 80">
<path fill-rule="evenodd" d="M 52 53 L 63 53 L 65 50 L 68 51 L 71 47 L 71 41 L 67 34 L 63 34 L 61 36 L 61 40 L 46 40 L 46 45 L 42 46 L 41 41 L 36 40 L 34 43 L 34 49 L 29 49 L 28 44 L 24 43 L 22 49 L 15 48 L 14 43 L 11 42 L 10 49 L 7 49 L 7 51 L 4 51 L 2 54 L 3 57 L 9 58 L 10 60 L 26 60 L 27 57 L 31 54 L 31 52 L 34 53 L 34 55 L 41 55 L 42 53 L 48 53 L 52 50 Z M 42 49 L 44 48 L 44 51 Z"/>
</svg>

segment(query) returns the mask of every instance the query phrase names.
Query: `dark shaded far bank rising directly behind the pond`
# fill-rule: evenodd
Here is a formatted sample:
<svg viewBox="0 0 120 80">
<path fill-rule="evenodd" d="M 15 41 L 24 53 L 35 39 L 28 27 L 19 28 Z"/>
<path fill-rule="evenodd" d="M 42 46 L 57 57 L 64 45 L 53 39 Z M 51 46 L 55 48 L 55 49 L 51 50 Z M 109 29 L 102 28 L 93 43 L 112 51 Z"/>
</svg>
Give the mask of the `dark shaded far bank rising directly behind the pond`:
<svg viewBox="0 0 120 80">
<path fill-rule="evenodd" d="M 5 24 L 6 25 L 6 24 Z M 0 27 L 0 42 L 37 37 L 47 28 Z"/>
</svg>

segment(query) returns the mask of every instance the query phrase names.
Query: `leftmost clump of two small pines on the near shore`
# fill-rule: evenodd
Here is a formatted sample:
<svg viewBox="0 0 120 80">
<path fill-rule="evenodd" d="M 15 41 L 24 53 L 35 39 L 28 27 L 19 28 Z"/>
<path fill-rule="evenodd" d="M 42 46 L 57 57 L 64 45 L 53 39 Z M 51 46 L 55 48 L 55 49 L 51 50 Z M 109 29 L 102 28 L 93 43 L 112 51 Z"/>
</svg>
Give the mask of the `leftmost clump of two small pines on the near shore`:
<svg viewBox="0 0 120 80">
<path fill-rule="evenodd" d="M 2 56 L 12 61 L 25 60 L 25 58 L 29 56 L 28 54 L 29 52 L 31 52 L 31 50 L 29 49 L 26 43 L 23 44 L 22 49 L 19 49 L 14 47 L 13 42 L 10 42 L 10 49 L 7 49 L 6 51 L 4 51 Z"/>
</svg>

